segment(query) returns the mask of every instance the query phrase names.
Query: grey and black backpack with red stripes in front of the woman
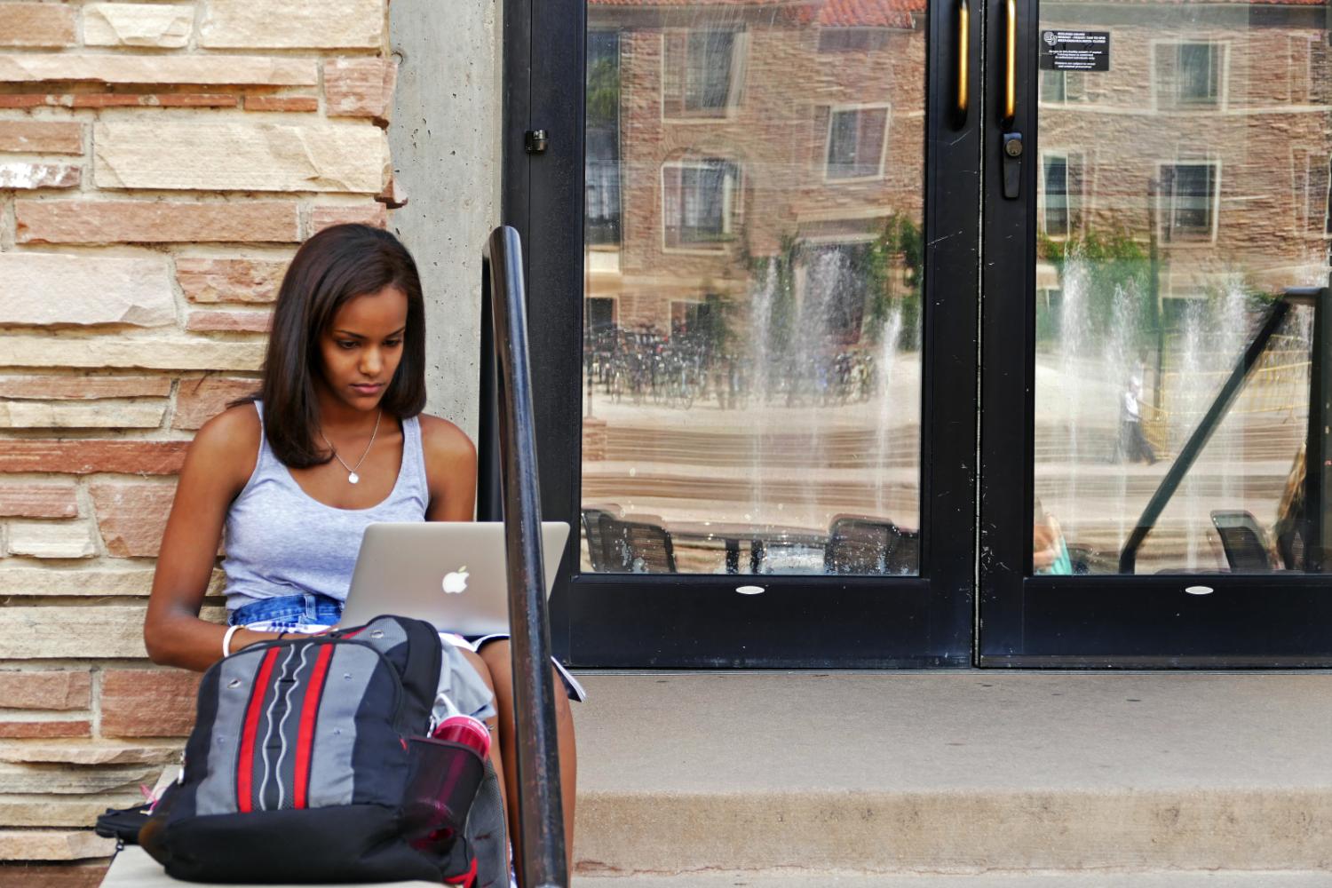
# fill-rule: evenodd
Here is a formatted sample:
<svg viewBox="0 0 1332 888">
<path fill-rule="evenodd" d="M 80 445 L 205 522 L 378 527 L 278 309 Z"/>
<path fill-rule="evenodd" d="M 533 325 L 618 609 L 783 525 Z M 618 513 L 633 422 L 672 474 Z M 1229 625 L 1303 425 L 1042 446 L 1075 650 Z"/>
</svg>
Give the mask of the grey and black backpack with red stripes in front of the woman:
<svg viewBox="0 0 1332 888">
<path fill-rule="evenodd" d="M 380 616 L 214 663 L 140 844 L 192 881 L 507 885 L 494 768 L 428 736 L 440 644 Z"/>
</svg>

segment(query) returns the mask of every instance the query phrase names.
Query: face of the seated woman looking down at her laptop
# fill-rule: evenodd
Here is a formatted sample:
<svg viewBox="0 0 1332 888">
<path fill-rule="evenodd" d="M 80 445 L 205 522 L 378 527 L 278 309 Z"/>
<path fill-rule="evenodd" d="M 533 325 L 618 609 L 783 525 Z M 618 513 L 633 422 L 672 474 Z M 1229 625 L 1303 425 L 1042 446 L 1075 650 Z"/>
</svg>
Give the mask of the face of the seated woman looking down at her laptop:
<svg viewBox="0 0 1332 888">
<path fill-rule="evenodd" d="M 396 286 L 342 304 L 320 335 L 322 382 L 356 410 L 373 410 L 402 361 L 408 297 Z"/>
</svg>

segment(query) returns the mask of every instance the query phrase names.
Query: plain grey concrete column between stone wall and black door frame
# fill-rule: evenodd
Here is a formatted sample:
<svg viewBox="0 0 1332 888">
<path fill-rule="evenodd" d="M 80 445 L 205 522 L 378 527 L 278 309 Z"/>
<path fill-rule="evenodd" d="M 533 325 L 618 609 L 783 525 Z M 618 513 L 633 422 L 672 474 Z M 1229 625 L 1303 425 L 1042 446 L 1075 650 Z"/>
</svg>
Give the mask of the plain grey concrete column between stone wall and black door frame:
<svg viewBox="0 0 1332 888">
<path fill-rule="evenodd" d="M 501 4 L 393 0 L 389 39 L 400 61 L 389 145 L 408 196 L 389 226 L 421 269 L 426 411 L 476 441 L 481 245 L 500 224 Z"/>
</svg>

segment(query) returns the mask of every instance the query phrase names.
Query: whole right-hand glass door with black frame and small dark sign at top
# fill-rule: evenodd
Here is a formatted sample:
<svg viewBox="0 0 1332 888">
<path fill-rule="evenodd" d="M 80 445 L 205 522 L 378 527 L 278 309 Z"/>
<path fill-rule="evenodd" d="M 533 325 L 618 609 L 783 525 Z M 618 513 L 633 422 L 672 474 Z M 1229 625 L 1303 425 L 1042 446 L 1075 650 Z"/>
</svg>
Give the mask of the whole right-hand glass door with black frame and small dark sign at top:
<svg viewBox="0 0 1332 888">
<path fill-rule="evenodd" d="M 1332 662 L 1328 7 L 990 15 L 980 662 Z"/>
</svg>

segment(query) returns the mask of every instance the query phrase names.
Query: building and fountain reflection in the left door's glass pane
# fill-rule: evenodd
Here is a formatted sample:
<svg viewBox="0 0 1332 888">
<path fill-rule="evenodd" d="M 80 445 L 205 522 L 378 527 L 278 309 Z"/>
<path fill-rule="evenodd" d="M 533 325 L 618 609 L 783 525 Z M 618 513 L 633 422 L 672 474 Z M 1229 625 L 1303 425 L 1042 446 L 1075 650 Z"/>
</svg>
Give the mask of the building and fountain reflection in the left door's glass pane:
<svg viewBox="0 0 1332 888">
<path fill-rule="evenodd" d="M 919 570 L 924 1 L 587 0 L 583 570 Z"/>
</svg>

